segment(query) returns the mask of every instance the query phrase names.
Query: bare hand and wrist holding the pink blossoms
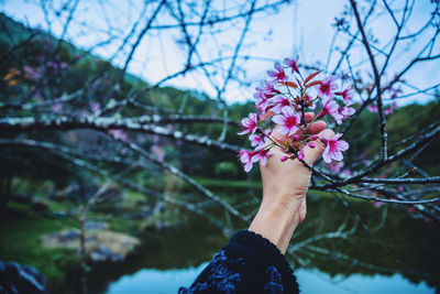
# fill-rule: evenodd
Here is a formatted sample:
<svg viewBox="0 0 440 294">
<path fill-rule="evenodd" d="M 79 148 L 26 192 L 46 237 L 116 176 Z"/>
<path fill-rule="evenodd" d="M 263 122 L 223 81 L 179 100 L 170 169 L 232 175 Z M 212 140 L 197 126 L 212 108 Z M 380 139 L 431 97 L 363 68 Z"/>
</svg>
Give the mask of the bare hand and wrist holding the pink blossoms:
<svg viewBox="0 0 440 294">
<path fill-rule="evenodd" d="M 306 121 L 312 121 L 314 113 L 306 113 Z M 319 138 L 331 139 L 332 130 L 326 129 L 326 122 L 316 121 L 307 131 Z M 300 133 L 297 133 L 301 135 Z M 274 130 L 273 140 L 282 143 L 287 137 Z M 314 149 L 304 149 L 305 162 L 312 165 L 322 154 L 324 146 L 318 139 Z M 298 160 L 280 162 L 285 155 L 279 148 L 271 150 L 266 166 L 261 165 L 263 182 L 263 200 L 250 230 L 271 240 L 282 253 L 286 252 L 288 242 L 299 222 L 306 217 L 306 193 L 311 177 L 311 170 Z"/>
</svg>

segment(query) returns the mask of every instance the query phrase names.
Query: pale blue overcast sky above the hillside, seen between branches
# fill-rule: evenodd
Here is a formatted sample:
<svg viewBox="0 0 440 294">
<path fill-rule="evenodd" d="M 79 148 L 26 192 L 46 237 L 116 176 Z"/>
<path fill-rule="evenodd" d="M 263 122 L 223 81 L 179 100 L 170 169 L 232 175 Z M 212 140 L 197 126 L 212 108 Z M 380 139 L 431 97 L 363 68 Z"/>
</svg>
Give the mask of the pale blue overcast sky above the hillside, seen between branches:
<svg viewBox="0 0 440 294">
<path fill-rule="evenodd" d="M 47 1 L 46 1 L 47 2 Z M 51 2 L 51 1 L 48 1 Z M 65 1 L 53 1 L 55 8 L 59 8 Z M 74 1 L 69 1 L 72 4 Z M 123 36 L 131 30 L 138 18 L 145 19 L 144 15 L 151 15 L 156 7 L 156 1 L 150 1 L 143 10 L 143 1 L 95 1 L 81 0 L 75 11 L 74 20 L 72 21 L 65 34 L 65 39 L 75 45 L 82 48 L 90 48 L 96 44 L 109 41 L 109 28 L 112 35 L 121 37 L 110 40 L 109 43 L 97 46 L 92 50 L 106 59 L 111 58 L 117 48 L 120 46 Z M 195 1 L 197 2 L 197 1 Z M 234 1 L 213 1 L 216 8 L 226 6 L 233 12 Z M 261 0 L 258 3 L 264 4 L 266 1 Z M 382 1 L 378 1 L 382 2 Z M 393 8 L 402 7 L 404 1 L 389 2 Z M 103 4 L 102 4 L 103 3 Z M 414 13 L 408 21 L 408 30 L 403 33 L 408 34 L 417 31 L 430 17 L 432 4 L 429 1 L 416 1 Z M 279 11 L 273 14 L 256 14 L 251 22 L 251 29 L 248 32 L 242 54 L 257 57 L 256 59 L 244 61 L 239 59 L 238 65 L 245 69 L 245 75 L 240 72 L 239 75 L 249 81 L 244 87 L 238 83 L 231 83 L 224 94 L 228 102 L 245 101 L 252 99 L 254 87 L 266 78 L 266 70 L 270 69 L 274 61 L 282 61 L 284 57 L 299 56 L 299 62 L 304 64 L 319 65 L 322 68 L 332 70 L 338 61 L 338 53 L 329 56 L 329 50 L 332 45 L 334 35 L 334 17 L 341 15 L 342 11 L 348 7 L 346 0 L 297 0 L 289 4 L 282 6 Z M 360 6 L 361 14 L 365 13 L 365 7 Z M 383 7 L 377 6 L 380 11 Z M 201 10 L 201 6 L 199 6 Z M 67 12 L 62 12 L 59 15 L 50 13 L 51 25 L 44 18 L 43 10 L 40 7 L 40 1 L 32 0 L 3 0 L 0 1 L 0 11 L 6 12 L 13 19 L 26 23 L 31 26 L 40 26 L 44 30 L 50 30 L 54 35 L 61 36 L 64 23 L 68 17 Z M 397 13 L 396 17 L 400 17 Z M 188 14 L 189 15 L 189 14 Z M 173 23 L 173 18 L 167 13 L 162 13 L 153 25 Z M 142 22 L 142 21 L 141 21 Z M 87 25 L 86 25 L 87 24 Z M 351 23 L 354 25 L 354 22 Z M 133 39 L 134 42 L 140 25 Z M 233 22 L 219 28 L 224 32 L 219 33 L 216 37 L 209 34 L 200 39 L 200 56 L 202 61 L 209 61 L 216 57 L 231 56 L 233 45 L 240 37 L 243 22 Z M 197 33 L 191 28 L 188 29 L 191 33 Z M 193 31 L 191 31 L 193 30 Z M 377 44 L 386 44 L 391 36 L 395 33 L 395 28 L 391 18 L 386 14 L 378 14 L 372 18 L 371 24 L 365 28 L 369 36 L 377 40 Z M 132 62 L 128 68 L 129 73 L 140 76 L 148 83 L 155 83 L 163 77 L 184 68 L 186 62 L 186 53 L 179 47 L 178 41 L 182 37 L 179 30 L 152 30 L 140 43 Z M 393 76 L 402 70 L 408 62 L 414 58 L 414 54 L 418 52 L 427 42 L 429 35 L 421 35 L 417 42 L 404 43 L 396 47 L 396 58 L 389 63 L 389 70 L 384 76 L 386 83 Z M 346 36 L 339 34 L 333 43 L 333 47 L 342 48 L 346 44 Z M 220 48 L 220 50 L 219 50 Z M 433 53 L 440 52 L 438 42 L 433 46 Z M 129 51 L 124 50 L 112 58 L 112 63 L 117 66 L 123 66 Z M 353 46 L 351 53 L 352 66 L 360 70 L 362 77 L 372 79 L 371 67 L 366 58 L 365 48 L 360 42 Z M 197 63 L 197 58 L 195 58 Z M 377 56 L 377 63 L 381 65 L 383 58 Z M 221 63 L 223 68 L 229 67 L 228 62 Z M 346 67 L 346 64 L 343 65 Z M 216 86 L 221 87 L 224 78 L 224 72 L 209 69 L 211 80 L 206 78 L 201 70 L 180 76 L 169 80 L 166 85 L 175 86 L 183 89 L 197 89 L 216 97 Z M 419 88 L 432 87 L 440 84 L 440 63 L 438 61 L 424 63 L 415 66 L 406 76 L 406 80 Z M 403 86 L 404 95 L 415 91 L 410 87 Z M 433 90 L 431 91 L 431 94 Z M 432 99 L 431 96 L 420 94 L 409 99 L 402 99 L 399 104 L 411 101 L 424 102 Z"/>
</svg>

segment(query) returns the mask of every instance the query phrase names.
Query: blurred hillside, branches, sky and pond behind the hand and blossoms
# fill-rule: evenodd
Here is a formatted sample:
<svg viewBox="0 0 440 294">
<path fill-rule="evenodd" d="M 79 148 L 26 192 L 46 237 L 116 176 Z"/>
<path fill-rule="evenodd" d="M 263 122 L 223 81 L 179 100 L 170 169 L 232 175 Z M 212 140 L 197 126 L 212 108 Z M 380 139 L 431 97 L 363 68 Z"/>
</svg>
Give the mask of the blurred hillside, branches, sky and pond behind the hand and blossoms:
<svg viewBox="0 0 440 294">
<path fill-rule="evenodd" d="M 256 213 L 237 132 L 285 57 L 356 109 L 286 254 L 300 288 L 438 292 L 439 33 L 436 0 L 0 1 L 0 292 L 189 286 Z"/>
</svg>

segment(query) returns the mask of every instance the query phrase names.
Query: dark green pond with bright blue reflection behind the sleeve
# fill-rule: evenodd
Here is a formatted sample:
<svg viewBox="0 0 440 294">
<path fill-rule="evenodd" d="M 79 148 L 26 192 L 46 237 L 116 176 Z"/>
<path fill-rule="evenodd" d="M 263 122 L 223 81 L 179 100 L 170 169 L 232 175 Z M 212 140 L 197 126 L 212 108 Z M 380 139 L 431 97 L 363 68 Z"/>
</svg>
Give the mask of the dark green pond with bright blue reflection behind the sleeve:
<svg viewBox="0 0 440 294">
<path fill-rule="evenodd" d="M 341 230 L 348 236 L 312 241 L 288 255 L 302 293 L 436 293 L 440 288 L 440 227 L 407 207 L 309 197 L 308 215 L 293 244 Z M 98 266 L 91 293 L 176 293 L 189 286 L 227 242 L 202 218 L 147 231 L 121 264 Z"/>
</svg>

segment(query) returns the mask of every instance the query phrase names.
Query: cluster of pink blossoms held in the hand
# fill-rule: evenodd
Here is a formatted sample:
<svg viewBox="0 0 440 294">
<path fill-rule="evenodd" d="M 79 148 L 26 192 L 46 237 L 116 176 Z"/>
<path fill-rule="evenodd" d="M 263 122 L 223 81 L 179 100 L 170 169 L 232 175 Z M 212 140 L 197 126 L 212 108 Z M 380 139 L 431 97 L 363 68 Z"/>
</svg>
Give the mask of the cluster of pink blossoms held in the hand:
<svg viewBox="0 0 440 294">
<path fill-rule="evenodd" d="M 240 151 L 240 161 L 245 172 L 250 172 L 256 162 L 266 164 L 272 155 L 271 149 L 280 148 L 285 155 L 282 161 L 305 159 L 305 148 L 314 149 L 318 135 L 308 131 L 308 127 L 317 119 L 334 120 L 341 124 L 354 113 L 352 105 L 352 89 L 339 89 L 336 78 L 330 76 L 318 79 L 321 72 L 315 72 L 304 77 L 299 70 L 297 59 L 285 58 L 283 64 L 275 63 L 274 68 L 267 70 L 268 80 L 256 88 L 255 106 L 257 111 L 249 115 L 241 122 L 242 131 L 251 141 L 253 151 Z M 306 119 L 306 112 L 314 111 L 314 119 Z M 273 128 L 287 139 L 283 142 L 271 138 Z M 330 140 L 321 139 L 326 145 L 323 160 L 341 161 L 342 151 L 349 144 L 339 140 L 338 133 Z"/>
</svg>

